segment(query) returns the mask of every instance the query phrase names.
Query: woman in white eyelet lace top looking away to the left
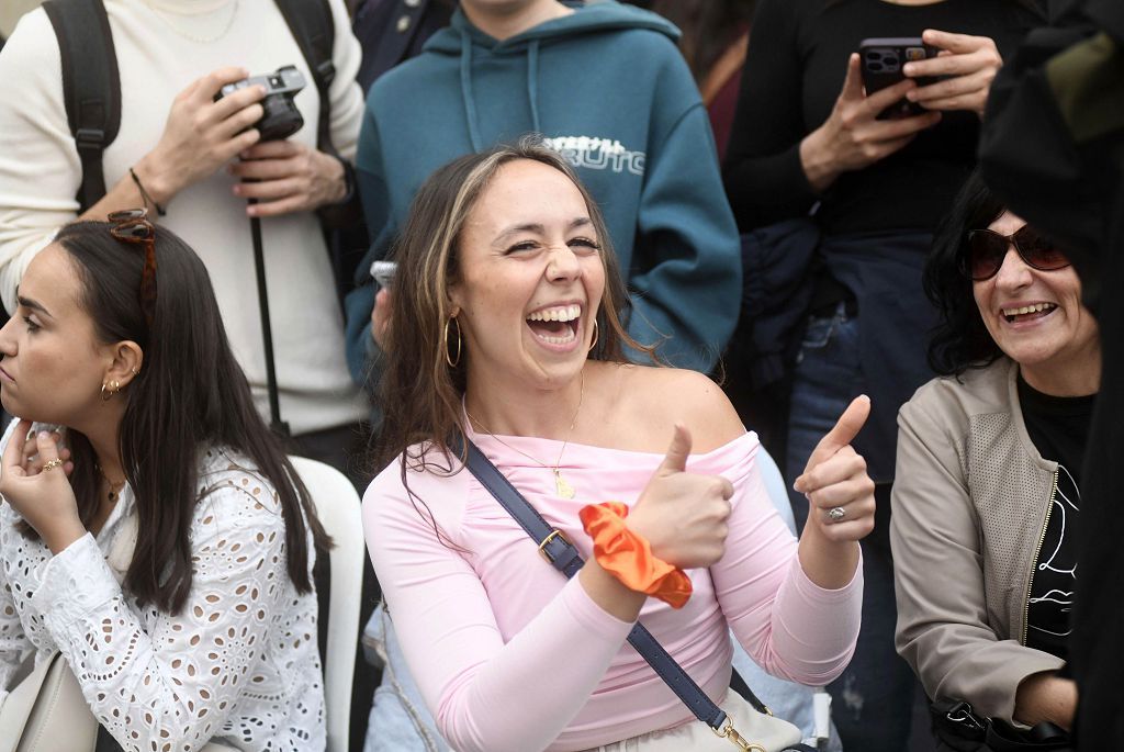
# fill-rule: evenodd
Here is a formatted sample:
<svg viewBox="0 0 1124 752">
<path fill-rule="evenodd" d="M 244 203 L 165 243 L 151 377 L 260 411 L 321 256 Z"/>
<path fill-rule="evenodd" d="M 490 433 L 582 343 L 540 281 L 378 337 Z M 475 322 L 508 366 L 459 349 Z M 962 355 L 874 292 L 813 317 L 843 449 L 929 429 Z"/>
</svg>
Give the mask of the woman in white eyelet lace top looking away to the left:
<svg viewBox="0 0 1124 752">
<path fill-rule="evenodd" d="M 323 529 L 202 263 L 121 214 L 64 227 L 0 330 L 21 418 L 0 474 L 0 701 L 21 659 L 57 650 L 125 750 L 323 750 Z"/>
</svg>

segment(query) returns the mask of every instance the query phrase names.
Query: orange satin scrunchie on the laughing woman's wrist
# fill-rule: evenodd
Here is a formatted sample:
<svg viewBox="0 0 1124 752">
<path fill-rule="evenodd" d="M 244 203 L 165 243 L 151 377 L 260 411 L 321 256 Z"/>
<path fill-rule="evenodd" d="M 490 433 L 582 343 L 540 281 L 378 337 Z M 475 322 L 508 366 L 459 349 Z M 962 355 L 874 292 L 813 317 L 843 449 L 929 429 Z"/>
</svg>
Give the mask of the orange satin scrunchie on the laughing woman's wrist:
<svg viewBox="0 0 1124 752">
<path fill-rule="evenodd" d="M 593 538 L 593 555 L 605 571 L 629 590 L 646 592 L 672 608 L 683 607 L 691 597 L 690 578 L 654 556 L 649 542 L 628 529 L 628 507 L 619 501 L 590 504 L 578 516 Z"/>
</svg>

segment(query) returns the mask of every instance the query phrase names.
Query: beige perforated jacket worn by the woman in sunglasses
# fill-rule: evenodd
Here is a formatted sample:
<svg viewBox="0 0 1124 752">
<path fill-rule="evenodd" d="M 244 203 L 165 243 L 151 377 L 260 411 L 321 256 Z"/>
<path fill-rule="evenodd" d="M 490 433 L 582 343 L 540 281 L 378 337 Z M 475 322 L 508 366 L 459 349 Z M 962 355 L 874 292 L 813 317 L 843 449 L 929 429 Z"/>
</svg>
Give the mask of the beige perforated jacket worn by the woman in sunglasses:
<svg viewBox="0 0 1124 752">
<path fill-rule="evenodd" d="M 930 697 L 1006 721 L 1024 678 L 1062 665 L 1024 644 L 1058 463 L 1031 443 L 1017 373 L 1000 359 L 903 406 L 890 517 L 898 652 Z"/>
</svg>

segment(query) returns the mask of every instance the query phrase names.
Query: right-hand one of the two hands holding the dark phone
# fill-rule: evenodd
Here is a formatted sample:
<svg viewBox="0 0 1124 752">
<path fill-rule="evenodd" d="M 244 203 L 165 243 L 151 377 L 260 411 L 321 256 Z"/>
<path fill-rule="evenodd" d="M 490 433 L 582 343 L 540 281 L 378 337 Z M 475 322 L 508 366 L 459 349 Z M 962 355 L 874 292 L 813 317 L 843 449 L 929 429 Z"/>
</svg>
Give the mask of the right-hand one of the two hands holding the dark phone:
<svg viewBox="0 0 1124 752">
<path fill-rule="evenodd" d="M 904 72 L 912 79 L 941 76 L 941 80 L 917 87 L 906 94 L 907 99 L 927 110 L 969 110 L 984 117 L 991 81 L 1003 66 L 995 42 L 936 29 L 926 29 L 922 39 L 940 48 L 940 54 L 906 63 Z"/>
</svg>

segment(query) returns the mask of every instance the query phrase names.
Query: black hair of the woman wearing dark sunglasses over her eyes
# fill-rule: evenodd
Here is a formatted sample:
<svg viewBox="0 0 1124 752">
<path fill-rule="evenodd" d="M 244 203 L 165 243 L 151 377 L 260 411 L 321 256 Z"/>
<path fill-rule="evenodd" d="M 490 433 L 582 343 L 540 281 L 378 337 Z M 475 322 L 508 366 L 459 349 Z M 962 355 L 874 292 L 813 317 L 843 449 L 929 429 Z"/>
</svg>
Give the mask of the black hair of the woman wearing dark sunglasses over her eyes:
<svg viewBox="0 0 1124 752">
<path fill-rule="evenodd" d="M 922 281 L 925 295 L 940 314 L 928 344 L 928 364 L 941 375 L 960 375 L 968 369 L 986 368 L 1003 355 L 984 326 L 967 264 L 968 230 L 987 227 L 1005 210 L 977 170 L 960 189 L 933 236 Z"/>
</svg>

